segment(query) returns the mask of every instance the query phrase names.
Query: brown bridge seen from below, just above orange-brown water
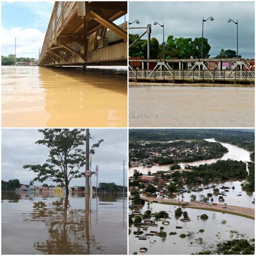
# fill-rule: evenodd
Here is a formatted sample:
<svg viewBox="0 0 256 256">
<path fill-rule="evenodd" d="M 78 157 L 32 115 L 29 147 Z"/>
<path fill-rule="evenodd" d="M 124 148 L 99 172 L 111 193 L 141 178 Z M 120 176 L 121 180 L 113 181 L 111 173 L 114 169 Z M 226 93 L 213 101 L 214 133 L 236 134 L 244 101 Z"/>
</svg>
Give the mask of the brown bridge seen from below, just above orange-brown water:
<svg viewBox="0 0 256 256">
<path fill-rule="evenodd" d="M 127 2 L 55 2 L 39 66 L 127 65 Z"/>
</svg>

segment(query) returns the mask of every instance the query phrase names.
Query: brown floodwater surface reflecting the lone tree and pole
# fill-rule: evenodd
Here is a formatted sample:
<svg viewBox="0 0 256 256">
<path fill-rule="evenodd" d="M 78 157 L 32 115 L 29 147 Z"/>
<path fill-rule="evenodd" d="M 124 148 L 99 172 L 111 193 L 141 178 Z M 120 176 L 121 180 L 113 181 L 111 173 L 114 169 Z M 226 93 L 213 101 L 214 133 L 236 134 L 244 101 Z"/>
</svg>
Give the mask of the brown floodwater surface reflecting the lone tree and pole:
<svg viewBox="0 0 256 256">
<path fill-rule="evenodd" d="M 127 199 L 2 192 L 2 254 L 126 254 Z"/>
</svg>

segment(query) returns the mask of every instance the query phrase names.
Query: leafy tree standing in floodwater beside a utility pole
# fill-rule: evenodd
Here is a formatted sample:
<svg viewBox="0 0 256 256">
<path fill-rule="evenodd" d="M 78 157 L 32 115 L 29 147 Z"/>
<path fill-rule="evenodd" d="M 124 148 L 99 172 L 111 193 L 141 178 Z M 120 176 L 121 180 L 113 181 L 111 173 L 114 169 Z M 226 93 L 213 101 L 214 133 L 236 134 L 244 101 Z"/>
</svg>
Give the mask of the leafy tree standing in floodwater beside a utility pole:
<svg viewBox="0 0 256 256">
<path fill-rule="evenodd" d="M 66 196 L 69 194 L 69 183 L 72 179 L 84 177 L 80 168 L 85 165 L 85 151 L 81 149 L 86 136 L 85 129 L 41 129 L 44 139 L 40 139 L 36 144 L 45 145 L 49 149 L 49 158 L 41 165 L 24 165 L 24 169 L 29 169 L 37 174 L 33 180 L 44 182 L 46 180 L 60 183 L 65 186 Z M 103 140 L 91 146 L 90 153 L 95 153 L 95 148 L 99 147 Z"/>
</svg>

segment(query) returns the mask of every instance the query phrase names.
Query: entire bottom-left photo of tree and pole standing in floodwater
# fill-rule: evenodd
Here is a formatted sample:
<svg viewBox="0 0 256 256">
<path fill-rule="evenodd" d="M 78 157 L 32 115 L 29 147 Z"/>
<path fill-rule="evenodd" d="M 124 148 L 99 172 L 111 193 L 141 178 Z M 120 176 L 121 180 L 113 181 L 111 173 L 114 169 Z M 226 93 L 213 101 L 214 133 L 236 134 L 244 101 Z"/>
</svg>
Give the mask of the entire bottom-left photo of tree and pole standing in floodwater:
<svg viewBox="0 0 256 256">
<path fill-rule="evenodd" d="M 126 130 L 2 135 L 2 254 L 127 254 Z"/>
</svg>

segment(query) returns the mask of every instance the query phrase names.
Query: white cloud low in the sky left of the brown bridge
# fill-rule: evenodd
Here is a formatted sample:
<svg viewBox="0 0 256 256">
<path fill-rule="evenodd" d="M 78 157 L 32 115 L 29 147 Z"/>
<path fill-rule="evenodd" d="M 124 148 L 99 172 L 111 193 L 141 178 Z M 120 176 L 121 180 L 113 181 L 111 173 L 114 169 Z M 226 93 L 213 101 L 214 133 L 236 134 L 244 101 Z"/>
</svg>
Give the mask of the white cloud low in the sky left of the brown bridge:
<svg viewBox="0 0 256 256">
<path fill-rule="evenodd" d="M 17 57 L 38 58 L 38 49 L 42 48 L 45 33 L 38 29 L 14 27 L 6 29 L 2 26 L 2 55 L 14 54 L 16 37 Z"/>
</svg>

